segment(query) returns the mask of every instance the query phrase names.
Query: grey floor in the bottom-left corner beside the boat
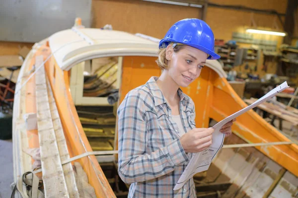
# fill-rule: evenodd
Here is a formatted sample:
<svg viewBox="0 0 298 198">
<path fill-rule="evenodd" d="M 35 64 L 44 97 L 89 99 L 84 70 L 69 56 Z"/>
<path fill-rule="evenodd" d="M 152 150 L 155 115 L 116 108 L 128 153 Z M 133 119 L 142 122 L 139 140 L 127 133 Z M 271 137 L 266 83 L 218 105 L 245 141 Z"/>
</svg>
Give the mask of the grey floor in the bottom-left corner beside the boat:
<svg viewBox="0 0 298 198">
<path fill-rule="evenodd" d="M 12 141 L 0 140 L 0 198 L 10 198 L 12 182 Z"/>
</svg>

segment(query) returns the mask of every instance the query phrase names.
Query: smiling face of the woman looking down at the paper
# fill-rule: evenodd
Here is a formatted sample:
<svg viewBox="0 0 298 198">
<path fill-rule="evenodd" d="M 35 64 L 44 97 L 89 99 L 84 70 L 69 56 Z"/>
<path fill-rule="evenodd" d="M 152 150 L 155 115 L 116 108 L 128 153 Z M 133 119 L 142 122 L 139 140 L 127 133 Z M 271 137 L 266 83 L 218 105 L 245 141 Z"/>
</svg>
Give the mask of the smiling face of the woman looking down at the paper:
<svg viewBox="0 0 298 198">
<path fill-rule="evenodd" d="M 200 76 L 207 57 L 207 53 L 190 46 L 183 46 L 177 52 L 168 46 L 166 49 L 166 59 L 169 60 L 167 70 L 179 87 L 187 87 Z"/>
</svg>

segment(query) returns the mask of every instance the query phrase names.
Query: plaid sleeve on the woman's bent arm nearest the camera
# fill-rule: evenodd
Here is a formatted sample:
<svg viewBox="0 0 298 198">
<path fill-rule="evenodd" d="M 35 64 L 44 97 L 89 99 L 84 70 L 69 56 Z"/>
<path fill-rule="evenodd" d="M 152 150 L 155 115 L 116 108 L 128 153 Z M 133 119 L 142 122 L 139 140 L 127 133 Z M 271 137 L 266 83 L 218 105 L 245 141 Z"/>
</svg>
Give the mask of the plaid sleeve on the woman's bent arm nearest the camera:
<svg viewBox="0 0 298 198">
<path fill-rule="evenodd" d="M 146 106 L 140 92 L 131 91 L 118 109 L 118 173 L 127 184 L 151 180 L 187 162 L 180 140 L 147 153 Z"/>
</svg>

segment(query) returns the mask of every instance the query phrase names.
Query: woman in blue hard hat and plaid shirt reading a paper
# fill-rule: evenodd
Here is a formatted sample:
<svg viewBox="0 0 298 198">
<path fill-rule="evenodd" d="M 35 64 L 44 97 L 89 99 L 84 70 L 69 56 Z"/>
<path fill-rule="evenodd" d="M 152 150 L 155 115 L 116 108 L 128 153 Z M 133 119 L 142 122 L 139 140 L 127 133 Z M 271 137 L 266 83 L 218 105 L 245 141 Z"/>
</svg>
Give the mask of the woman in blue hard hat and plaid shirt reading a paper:
<svg viewBox="0 0 298 198">
<path fill-rule="evenodd" d="M 173 188 L 192 153 L 211 145 L 212 128 L 196 128 L 195 106 L 181 87 L 218 59 L 211 28 L 199 19 L 175 23 L 159 43 L 160 77 L 130 91 L 118 109 L 119 169 L 130 198 L 194 198 L 193 179 Z M 231 134 L 232 121 L 221 132 Z"/>
</svg>

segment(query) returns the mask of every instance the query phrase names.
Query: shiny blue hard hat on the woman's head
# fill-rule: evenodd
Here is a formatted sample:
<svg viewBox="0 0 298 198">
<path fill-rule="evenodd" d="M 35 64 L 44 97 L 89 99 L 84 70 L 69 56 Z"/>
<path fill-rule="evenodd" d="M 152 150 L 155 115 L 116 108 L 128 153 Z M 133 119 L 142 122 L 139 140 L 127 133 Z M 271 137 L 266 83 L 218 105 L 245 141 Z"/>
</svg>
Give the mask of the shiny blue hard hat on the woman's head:
<svg viewBox="0 0 298 198">
<path fill-rule="evenodd" d="M 214 52 L 214 34 L 205 21 L 196 18 L 183 19 L 176 22 L 159 42 L 159 49 L 170 43 L 179 43 L 200 49 L 209 54 L 207 59 L 219 59 Z"/>
</svg>

